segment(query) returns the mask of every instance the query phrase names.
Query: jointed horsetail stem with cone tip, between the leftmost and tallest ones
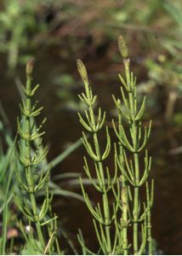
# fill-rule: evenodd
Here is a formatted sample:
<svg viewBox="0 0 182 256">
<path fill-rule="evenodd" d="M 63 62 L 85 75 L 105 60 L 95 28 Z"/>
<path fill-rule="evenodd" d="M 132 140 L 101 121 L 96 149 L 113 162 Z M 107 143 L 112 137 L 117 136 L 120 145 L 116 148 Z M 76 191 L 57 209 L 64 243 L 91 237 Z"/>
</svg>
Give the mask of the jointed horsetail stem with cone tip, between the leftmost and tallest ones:
<svg viewBox="0 0 182 256">
<path fill-rule="evenodd" d="M 101 110 L 99 109 L 99 119 L 101 121 L 97 121 L 94 116 L 94 99 L 96 99 L 96 96 L 93 96 L 92 90 L 88 85 L 88 75 L 86 68 L 84 67 L 82 61 L 77 61 L 78 71 L 81 74 L 82 81 L 85 85 L 85 94 L 82 93 L 82 96 L 80 96 L 80 99 L 82 102 L 84 102 L 87 105 L 86 109 L 86 119 L 87 122 L 84 122 L 81 115 L 81 123 L 82 125 L 91 133 L 91 136 L 93 137 L 94 141 L 94 149 L 91 148 L 90 144 L 87 142 L 87 138 L 83 138 L 83 142 L 85 143 L 85 147 L 87 148 L 88 154 L 90 157 L 94 160 L 94 165 L 96 166 L 96 174 L 98 183 L 95 183 L 95 188 L 100 191 L 102 196 L 101 203 L 98 203 L 98 207 L 91 208 L 90 202 L 85 197 L 86 203 L 88 205 L 88 208 L 90 212 L 94 215 L 94 227 L 97 234 L 98 241 L 100 243 L 100 248 L 102 249 L 102 252 L 105 254 L 111 254 L 112 252 L 112 245 L 111 245 L 111 211 L 110 211 L 110 205 L 109 205 L 109 199 L 108 199 L 108 190 L 111 189 L 111 183 L 107 183 L 105 179 L 105 172 L 104 172 L 104 166 L 103 161 L 105 157 L 109 154 L 110 151 L 110 141 L 107 141 L 106 145 L 106 151 L 104 157 L 100 153 L 100 142 L 98 138 L 98 131 L 101 129 L 104 121 L 105 116 L 101 118 Z M 85 124 L 85 125 L 84 125 Z M 101 125 L 100 125 L 101 124 Z M 107 131 L 107 140 L 108 140 L 108 131 Z M 105 156 L 106 155 L 106 156 Z M 88 174 L 89 171 L 87 171 Z M 110 175 L 107 172 L 107 175 Z M 88 177 L 92 179 L 91 174 L 88 174 Z M 110 177 L 108 177 L 110 178 Z M 84 192 L 83 192 L 84 195 Z M 100 207 L 101 205 L 101 207 Z M 103 211 L 103 213 L 101 213 Z M 95 222 L 97 220 L 99 222 L 100 230 L 97 228 L 97 224 Z"/>
</svg>

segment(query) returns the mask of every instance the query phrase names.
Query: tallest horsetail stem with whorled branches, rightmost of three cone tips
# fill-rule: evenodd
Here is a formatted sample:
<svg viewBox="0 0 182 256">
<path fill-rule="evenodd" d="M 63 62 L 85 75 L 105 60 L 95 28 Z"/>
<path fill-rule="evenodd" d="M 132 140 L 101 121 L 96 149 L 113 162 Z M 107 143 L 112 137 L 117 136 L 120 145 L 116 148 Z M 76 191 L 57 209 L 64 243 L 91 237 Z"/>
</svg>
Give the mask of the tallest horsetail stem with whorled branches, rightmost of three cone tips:
<svg viewBox="0 0 182 256">
<path fill-rule="evenodd" d="M 123 159 L 119 163 L 119 168 L 122 172 L 122 176 L 125 178 L 122 182 L 122 189 L 125 184 L 131 186 L 128 189 L 128 199 L 131 201 L 131 205 L 128 203 L 128 219 L 131 221 L 133 228 L 133 246 L 134 254 L 141 254 L 146 251 L 145 245 L 148 236 L 148 247 L 149 252 L 152 253 L 152 241 L 151 241 L 151 204 L 153 201 L 153 183 L 151 184 L 151 196 L 148 189 L 148 184 L 146 183 L 149 172 L 151 171 L 151 157 L 148 156 L 147 149 L 145 150 L 144 157 L 144 170 L 141 170 L 139 166 L 139 152 L 145 148 L 150 133 L 151 133 L 151 122 L 149 127 L 145 126 L 144 133 L 142 132 L 141 119 L 145 111 L 145 97 L 140 106 L 138 106 L 137 90 L 136 90 L 136 77 L 134 73 L 130 73 L 129 68 L 129 57 L 128 57 L 128 47 L 122 36 L 118 39 L 118 46 L 120 53 L 123 58 L 123 63 L 125 67 L 126 79 L 123 79 L 119 75 L 122 85 L 125 91 L 122 90 L 122 104 L 120 100 L 117 100 L 114 96 L 114 101 L 116 102 L 117 109 L 120 110 L 121 114 L 126 118 L 128 123 L 128 133 L 125 131 L 121 118 L 119 117 L 119 123 L 121 129 L 116 129 L 114 124 L 114 129 L 116 131 L 117 137 L 119 138 L 120 144 L 124 148 Z M 142 138 L 143 137 L 143 138 Z M 128 154 L 127 154 L 128 152 Z M 120 153 L 121 154 L 121 153 Z M 117 158 L 118 160 L 118 158 Z M 147 207 L 144 204 L 144 211 L 140 212 L 140 197 L 139 188 L 146 183 L 146 194 L 147 194 Z M 129 188 L 129 187 L 128 187 Z M 124 190 L 123 190 L 124 192 Z M 124 193 L 122 193 L 122 197 Z M 122 199 L 123 201 L 123 199 Z M 126 217 L 125 208 L 122 205 L 122 219 Z M 148 224 L 148 227 L 147 227 Z M 141 239 L 139 239 L 139 231 L 141 231 Z M 122 241 L 125 244 L 125 232 L 122 229 Z M 147 233 L 148 232 L 148 233 Z M 126 253 L 126 252 L 124 252 Z"/>
</svg>

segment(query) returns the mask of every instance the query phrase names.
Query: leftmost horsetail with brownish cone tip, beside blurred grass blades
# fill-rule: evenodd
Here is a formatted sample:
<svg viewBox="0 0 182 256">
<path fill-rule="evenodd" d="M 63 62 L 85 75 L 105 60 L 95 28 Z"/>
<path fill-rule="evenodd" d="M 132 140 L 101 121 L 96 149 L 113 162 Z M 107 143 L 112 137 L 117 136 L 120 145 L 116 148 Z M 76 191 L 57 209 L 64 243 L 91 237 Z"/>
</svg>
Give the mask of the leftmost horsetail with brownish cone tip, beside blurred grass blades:
<svg viewBox="0 0 182 256">
<path fill-rule="evenodd" d="M 51 201 L 49 195 L 48 179 L 50 168 L 43 166 L 45 163 L 48 148 L 43 148 L 42 126 L 46 119 L 38 127 L 35 118 L 43 108 L 37 108 L 37 102 L 32 104 L 32 97 L 37 91 L 39 84 L 31 89 L 32 72 L 34 61 L 31 59 L 26 65 L 26 87 L 23 86 L 25 99 L 20 104 L 21 120 L 18 119 L 19 142 L 17 145 L 18 163 L 16 165 L 16 177 L 19 183 L 19 191 L 15 195 L 15 201 L 23 217 L 26 218 L 29 231 L 26 232 L 22 220 L 18 225 L 26 240 L 27 250 L 33 249 L 33 253 L 53 254 L 61 253 L 57 241 L 57 220 L 52 216 Z M 22 166 L 23 172 L 20 171 Z M 39 207 L 37 201 L 38 193 L 43 193 L 43 203 Z M 40 201 L 40 200 L 39 200 Z M 49 215 L 49 217 L 48 217 Z M 50 217 L 52 216 L 52 217 Z M 45 234 L 48 237 L 45 237 Z"/>
</svg>

